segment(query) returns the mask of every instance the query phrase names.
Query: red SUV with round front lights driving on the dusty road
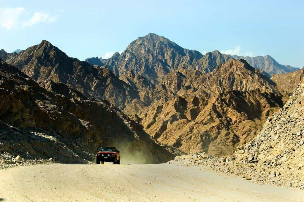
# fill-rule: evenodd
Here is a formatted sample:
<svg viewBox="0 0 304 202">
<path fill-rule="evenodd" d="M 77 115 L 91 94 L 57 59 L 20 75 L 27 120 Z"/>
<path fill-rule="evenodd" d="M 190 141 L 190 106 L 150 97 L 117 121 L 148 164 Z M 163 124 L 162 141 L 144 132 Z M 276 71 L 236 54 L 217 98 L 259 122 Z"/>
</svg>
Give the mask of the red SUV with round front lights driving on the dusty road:
<svg viewBox="0 0 304 202">
<path fill-rule="evenodd" d="M 105 162 L 113 162 L 120 164 L 120 153 L 117 147 L 102 147 L 96 154 L 96 164 L 104 164 Z"/>
</svg>

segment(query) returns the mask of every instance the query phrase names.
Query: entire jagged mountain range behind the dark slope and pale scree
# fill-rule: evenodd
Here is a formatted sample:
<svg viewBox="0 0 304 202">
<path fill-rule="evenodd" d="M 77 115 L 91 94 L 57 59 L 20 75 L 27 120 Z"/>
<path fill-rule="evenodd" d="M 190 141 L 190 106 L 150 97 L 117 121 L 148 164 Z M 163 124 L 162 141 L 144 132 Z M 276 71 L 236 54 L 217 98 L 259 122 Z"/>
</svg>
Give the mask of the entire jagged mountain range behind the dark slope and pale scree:
<svg viewBox="0 0 304 202">
<path fill-rule="evenodd" d="M 108 103 L 156 141 L 215 156 L 231 155 L 250 142 L 303 74 L 270 56 L 202 55 L 153 33 L 106 60 L 80 61 L 45 40 L 20 53 L 3 50 L 2 56 L 6 66 L 18 67 L 13 74 L 47 91 L 77 102 Z M 283 79 L 290 78 L 296 79 L 286 87 Z"/>
</svg>

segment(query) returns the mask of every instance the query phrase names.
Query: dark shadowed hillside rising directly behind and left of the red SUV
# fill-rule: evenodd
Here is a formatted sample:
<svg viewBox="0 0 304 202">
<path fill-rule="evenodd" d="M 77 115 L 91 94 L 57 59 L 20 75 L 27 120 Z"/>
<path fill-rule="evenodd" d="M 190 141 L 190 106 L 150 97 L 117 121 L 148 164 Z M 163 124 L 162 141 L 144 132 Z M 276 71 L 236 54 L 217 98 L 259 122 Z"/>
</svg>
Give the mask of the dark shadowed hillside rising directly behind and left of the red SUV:
<svg viewBox="0 0 304 202">
<path fill-rule="evenodd" d="M 75 99 L 84 96 L 51 81 L 42 84 L 52 90 L 47 91 L 30 78 L 3 71 L 3 64 L 6 63 L 0 69 L 1 163 L 16 163 L 11 157 L 17 155 L 25 160 L 55 157 L 61 163 L 86 163 L 94 160 L 93 154 L 100 146 L 118 146 L 124 163 L 165 162 L 175 152 L 180 153 L 151 139 L 141 125 L 114 106 Z M 58 87 L 66 96 L 54 92 Z"/>
</svg>

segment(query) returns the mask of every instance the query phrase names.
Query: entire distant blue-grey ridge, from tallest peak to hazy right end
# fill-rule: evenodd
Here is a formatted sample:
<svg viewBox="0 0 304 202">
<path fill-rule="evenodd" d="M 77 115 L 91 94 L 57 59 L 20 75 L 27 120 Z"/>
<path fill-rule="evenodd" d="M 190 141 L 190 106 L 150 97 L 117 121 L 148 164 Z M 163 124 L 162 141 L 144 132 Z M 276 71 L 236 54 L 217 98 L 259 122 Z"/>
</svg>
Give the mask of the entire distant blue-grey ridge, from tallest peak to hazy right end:
<svg viewBox="0 0 304 202">
<path fill-rule="evenodd" d="M 127 74 L 133 70 L 135 74 L 141 74 L 153 84 L 157 84 L 164 76 L 179 67 L 199 70 L 203 73 L 212 72 L 220 64 L 230 59 L 245 59 L 252 67 L 259 69 L 269 78 L 273 74 L 285 74 L 298 70 L 289 65 L 281 65 L 271 56 L 237 56 L 220 53 L 218 50 L 202 55 L 199 51 L 184 49 L 169 39 L 149 33 L 138 37 L 122 53 L 115 53 L 109 59 L 99 58 L 106 64 L 116 76 Z M 98 65 L 99 61 L 88 58 L 92 65 Z"/>
</svg>

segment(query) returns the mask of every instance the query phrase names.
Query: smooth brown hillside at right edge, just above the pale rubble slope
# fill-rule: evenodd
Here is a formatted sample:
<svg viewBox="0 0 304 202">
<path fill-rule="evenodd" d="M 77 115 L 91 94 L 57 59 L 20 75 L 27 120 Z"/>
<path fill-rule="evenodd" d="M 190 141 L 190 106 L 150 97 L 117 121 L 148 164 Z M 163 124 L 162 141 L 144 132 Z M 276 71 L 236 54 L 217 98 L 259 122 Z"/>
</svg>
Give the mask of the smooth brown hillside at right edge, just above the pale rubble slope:
<svg viewBox="0 0 304 202">
<path fill-rule="evenodd" d="M 298 84 L 304 78 L 304 67 L 300 70 L 287 73 L 275 74 L 271 77 L 277 85 L 282 94 L 291 95 L 292 91 L 298 87 Z"/>
</svg>

